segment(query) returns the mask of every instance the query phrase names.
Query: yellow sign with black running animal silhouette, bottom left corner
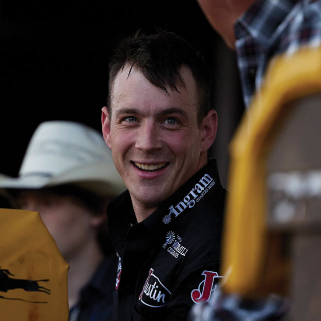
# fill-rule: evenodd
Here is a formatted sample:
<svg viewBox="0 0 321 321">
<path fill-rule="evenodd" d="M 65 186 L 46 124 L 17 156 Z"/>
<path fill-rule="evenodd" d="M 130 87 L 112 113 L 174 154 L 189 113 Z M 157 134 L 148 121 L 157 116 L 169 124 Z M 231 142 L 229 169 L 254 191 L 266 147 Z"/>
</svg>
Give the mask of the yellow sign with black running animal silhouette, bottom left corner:
<svg viewBox="0 0 321 321">
<path fill-rule="evenodd" d="M 37 212 L 0 209 L 0 320 L 67 321 L 67 272 Z"/>
</svg>

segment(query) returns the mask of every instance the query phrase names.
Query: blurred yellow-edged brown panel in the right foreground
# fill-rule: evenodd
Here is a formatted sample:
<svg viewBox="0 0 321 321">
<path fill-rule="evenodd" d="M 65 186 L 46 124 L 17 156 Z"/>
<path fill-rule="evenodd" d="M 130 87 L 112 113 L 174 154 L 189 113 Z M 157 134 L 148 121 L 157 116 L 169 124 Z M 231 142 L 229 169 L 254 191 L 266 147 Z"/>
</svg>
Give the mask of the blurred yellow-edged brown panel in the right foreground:
<svg viewBox="0 0 321 321">
<path fill-rule="evenodd" d="M 270 65 L 231 144 L 225 292 L 288 296 L 291 321 L 321 319 L 321 49 Z"/>
</svg>

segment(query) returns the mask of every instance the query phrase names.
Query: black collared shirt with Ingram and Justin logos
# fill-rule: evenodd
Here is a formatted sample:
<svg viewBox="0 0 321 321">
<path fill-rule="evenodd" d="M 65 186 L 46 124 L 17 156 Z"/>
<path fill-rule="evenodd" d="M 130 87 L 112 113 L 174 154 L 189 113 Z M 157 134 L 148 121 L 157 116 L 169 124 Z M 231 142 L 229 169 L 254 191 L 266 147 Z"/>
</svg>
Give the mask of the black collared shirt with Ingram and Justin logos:
<svg viewBox="0 0 321 321">
<path fill-rule="evenodd" d="M 128 191 L 107 209 L 121 258 L 114 320 L 185 320 L 194 302 L 208 300 L 219 279 L 225 190 L 216 162 L 196 173 L 137 223 Z"/>
</svg>

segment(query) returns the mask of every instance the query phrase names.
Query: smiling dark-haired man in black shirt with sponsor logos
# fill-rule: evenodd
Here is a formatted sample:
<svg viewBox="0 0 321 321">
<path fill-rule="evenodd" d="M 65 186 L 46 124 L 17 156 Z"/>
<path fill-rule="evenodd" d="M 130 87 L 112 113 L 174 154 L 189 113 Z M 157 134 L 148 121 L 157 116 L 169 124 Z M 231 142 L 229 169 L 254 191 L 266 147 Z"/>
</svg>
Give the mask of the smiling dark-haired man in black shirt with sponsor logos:
<svg viewBox="0 0 321 321">
<path fill-rule="evenodd" d="M 201 56 L 136 34 L 110 62 L 102 131 L 128 191 L 108 207 L 119 254 L 115 320 L 184 320 L 219 279 L 225 191 L 207 151 L 217 114 Z"/>
</svg>

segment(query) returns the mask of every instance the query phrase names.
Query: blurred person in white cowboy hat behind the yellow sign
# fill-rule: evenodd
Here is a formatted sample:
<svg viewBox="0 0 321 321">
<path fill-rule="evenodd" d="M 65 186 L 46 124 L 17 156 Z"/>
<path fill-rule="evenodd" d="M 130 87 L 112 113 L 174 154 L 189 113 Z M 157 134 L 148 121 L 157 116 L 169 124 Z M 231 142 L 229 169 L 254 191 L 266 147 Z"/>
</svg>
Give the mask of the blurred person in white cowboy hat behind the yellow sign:
<svg viewBox="0 0 321 321">
<path fill-rule="evenodd" d="M 76 122 L 41 123 L 19 177 L 2 178 L 0 188 L 19 208 L 39 212 L 70 265 L 70 320 L 110 318 L 117 257 L 105 209 L 125 187 L 101 135 Z"/>
</svg>

